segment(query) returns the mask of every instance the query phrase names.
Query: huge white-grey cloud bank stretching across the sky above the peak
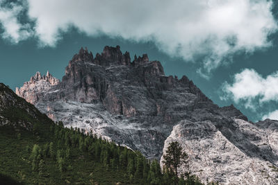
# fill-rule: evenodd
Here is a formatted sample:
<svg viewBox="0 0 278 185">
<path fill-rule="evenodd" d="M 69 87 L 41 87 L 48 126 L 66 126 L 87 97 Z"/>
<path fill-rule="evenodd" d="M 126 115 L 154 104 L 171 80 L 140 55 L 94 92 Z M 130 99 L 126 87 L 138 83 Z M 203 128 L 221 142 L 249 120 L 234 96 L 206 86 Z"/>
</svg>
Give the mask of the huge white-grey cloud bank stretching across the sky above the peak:
<svg viewBox="0 0 278 185">
<path fill-rule="evenodd" d="M 43 46 L 56 46 L 71 26 L 92 37 L 152 41 L 168 55 L 202 61 L 198 73 L 207 78 L 235 53 L 270 46 L 268 35 L 277 31 L 268 0 L 27 1 Z M 15 40 L 16 26 L 15 34 L 6 29 Z"/>
</svg>

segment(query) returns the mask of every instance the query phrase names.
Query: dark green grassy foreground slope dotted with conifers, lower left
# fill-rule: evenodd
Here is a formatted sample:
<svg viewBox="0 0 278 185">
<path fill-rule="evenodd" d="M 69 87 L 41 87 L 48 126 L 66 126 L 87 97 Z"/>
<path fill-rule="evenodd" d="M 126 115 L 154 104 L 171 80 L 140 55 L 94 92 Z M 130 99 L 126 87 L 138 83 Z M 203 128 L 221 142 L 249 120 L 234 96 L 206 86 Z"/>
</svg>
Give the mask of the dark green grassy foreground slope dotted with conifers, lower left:
<svg viewBox="0 0 278 185">
<path fill-rule="evenodd" d="M 172 184 L 158 161 L 55 124 L 0 83 L 0 184 Z M 200 184 L 195 177 L 180 184 Z"/>
</svg>

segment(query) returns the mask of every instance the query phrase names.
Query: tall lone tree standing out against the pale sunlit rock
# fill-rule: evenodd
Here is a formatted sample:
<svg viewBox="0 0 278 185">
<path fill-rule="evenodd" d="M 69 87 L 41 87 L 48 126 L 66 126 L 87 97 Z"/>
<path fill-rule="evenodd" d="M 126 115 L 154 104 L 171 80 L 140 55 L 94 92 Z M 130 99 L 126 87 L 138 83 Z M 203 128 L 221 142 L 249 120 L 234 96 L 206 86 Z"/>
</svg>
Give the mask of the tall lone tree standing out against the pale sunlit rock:
<svg viewBox="0 0 278 185">
<path fill-rule="evenodd" d="M 170 143 L 167 147 L 165 155 L 163 155 L 163 164 L 166 168 L 173 170 L 176 177 L 178 177 L 177 168 L 181 164 L 187 164 L 188 155 L 182 152 L 181 144 L 177 141 Z"/>
</svg>

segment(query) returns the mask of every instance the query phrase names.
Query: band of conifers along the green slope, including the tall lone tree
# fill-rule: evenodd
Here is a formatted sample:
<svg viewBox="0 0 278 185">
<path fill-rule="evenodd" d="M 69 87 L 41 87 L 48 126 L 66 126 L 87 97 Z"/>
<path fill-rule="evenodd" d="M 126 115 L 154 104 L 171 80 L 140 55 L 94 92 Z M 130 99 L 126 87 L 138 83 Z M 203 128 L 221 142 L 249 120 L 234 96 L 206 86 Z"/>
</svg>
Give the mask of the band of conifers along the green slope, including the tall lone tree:
<svg viewBox="0 0 278 185">
<path fill-rule="evenodd" d="M 187 155 L 181 152 L 177 142 L 170 143 L 163 155 L 164 167 L 161 169 L 157 160 L 150 161 L 140 152 L 117 146 L 114 142 L 96 134 L 85 134 L 79 128 L 63 127 L 62 122 L 51 125 L 50 133 L 53 140 L 43 146 L 35 144 L 28 148 L 31 155 L 32 170 L 40 175 L 44 174 L 46 159 L 53 159 L 61 173 L 71 170 L 70 161 L 79 154 L 86 153 L 92 157 L 92 163 L 99 163 L 115 173 L 123 173 L 124 184 L 202 184 L 197 177 L 178 175 L 177 168 L 186 162 Z M 78 148 L 78 155 L 73 151 Z M 75 150 L 76 151 L 76 150 Z"/>
</svg>

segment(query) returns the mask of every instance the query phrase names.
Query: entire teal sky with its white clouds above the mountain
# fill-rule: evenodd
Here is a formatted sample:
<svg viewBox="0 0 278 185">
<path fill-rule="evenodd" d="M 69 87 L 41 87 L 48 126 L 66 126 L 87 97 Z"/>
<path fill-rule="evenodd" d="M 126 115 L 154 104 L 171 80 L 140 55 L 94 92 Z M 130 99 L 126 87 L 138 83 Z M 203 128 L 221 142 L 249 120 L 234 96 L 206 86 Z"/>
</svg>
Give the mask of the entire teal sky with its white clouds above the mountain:
<svg viewBox="0 0 278 185">
<path fill-rule="evenodd" d="M 0 82 L 62 79 L 81 46 L 147 53 L 251 121 L 278 120 L 278 3 L 272 0 L 0 0 Z"/>
</svg>

